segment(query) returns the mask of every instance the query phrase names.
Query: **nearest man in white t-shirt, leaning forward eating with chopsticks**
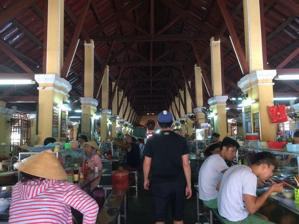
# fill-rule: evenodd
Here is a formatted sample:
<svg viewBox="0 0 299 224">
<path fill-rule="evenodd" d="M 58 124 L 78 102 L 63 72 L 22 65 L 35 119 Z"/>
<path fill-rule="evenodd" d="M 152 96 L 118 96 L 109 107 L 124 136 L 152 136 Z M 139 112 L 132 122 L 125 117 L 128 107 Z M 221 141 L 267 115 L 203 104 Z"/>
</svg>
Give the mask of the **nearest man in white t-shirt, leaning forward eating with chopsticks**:
<svg viewBox="0 0 299 224">
<path fill-rule="evenodd" d="M 260 217 L 256 211 L 272 192 L 281 192 L 281 184 L 272 185 L 260 197 L 256 197 L 257 177 L 266 180 L 278 163 L 269 152 L 256 153 L 251 165 L 235 165 L 223 175 L 218 195 L 218 211 L 225 224 L 272 223 Z M 273 224 L 273 223 L 272 223 Z"/>
</svg>

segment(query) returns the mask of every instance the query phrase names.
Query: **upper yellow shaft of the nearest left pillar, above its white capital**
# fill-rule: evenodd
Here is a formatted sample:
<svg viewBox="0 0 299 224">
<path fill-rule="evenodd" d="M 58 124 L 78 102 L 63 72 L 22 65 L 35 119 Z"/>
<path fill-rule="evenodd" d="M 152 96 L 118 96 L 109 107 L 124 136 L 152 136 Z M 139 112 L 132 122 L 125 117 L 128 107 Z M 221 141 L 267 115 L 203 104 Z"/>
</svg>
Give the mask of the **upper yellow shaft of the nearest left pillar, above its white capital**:
<svg viewBox="0 0 299 224">
<path fill-rule="evenodd" d="M 63 65 L 63 27 L 64 1 L 51 1 L 51 4 L 48 4 L 46 73 L 59 77 Z"/>
</svg>

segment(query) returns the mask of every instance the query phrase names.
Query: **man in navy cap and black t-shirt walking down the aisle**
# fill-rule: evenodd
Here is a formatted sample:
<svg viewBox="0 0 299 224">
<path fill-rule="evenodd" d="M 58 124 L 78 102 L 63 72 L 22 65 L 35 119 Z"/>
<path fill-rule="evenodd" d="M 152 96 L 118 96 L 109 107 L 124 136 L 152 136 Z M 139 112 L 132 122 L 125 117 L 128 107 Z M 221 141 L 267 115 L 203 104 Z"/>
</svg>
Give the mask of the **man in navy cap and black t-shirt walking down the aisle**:
<svg viewBox="0 0 299 224">
<path fill-rule="evenodd" d="M 170 130 L 173 116 L 168 111 L 158 114 L 161 131 L 148 139 L 143 154 L 144 189 L 152 190 L 154 218 L 165 223 L 169 203 L 173 223 L 183 223 L 185 199 L 190 198 L 191 171 L 189 147 L 185 138 Z M 153 174 L 149 184 L 149 169 L 153 159 Z M 187 182 L 187 184 L 186 184 Z"/>
</svg>

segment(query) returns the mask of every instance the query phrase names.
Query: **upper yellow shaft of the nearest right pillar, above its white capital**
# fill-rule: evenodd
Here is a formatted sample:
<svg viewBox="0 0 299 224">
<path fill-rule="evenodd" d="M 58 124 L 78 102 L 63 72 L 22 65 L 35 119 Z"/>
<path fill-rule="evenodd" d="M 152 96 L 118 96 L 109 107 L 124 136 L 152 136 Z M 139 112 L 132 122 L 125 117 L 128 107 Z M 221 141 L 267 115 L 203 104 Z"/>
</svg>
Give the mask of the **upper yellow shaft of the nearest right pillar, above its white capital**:
<svg viewBox="0 0 299 224">
<path fill-rule="evenodd" d="M 263 70 L 260 1 L 244 0 L 245 50 L 249 73 Z"/>
</svg>

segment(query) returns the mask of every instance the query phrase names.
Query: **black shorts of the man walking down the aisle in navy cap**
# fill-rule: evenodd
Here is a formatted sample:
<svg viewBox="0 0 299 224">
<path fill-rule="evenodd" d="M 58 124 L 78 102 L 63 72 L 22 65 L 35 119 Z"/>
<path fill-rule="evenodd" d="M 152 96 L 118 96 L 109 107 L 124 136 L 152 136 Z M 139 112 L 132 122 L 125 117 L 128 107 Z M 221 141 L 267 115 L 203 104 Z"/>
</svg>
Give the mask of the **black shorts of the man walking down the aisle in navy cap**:
<svg viewBox="0 0 299 224">
<path fill-rule="evenodd" d="M 155 222 L 165 222 L 169 202 L 173 220 L 183 220 L 185 205 L 185 182 L 152 183 Z"/>
</svg>

